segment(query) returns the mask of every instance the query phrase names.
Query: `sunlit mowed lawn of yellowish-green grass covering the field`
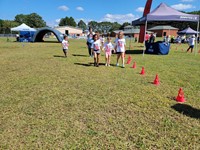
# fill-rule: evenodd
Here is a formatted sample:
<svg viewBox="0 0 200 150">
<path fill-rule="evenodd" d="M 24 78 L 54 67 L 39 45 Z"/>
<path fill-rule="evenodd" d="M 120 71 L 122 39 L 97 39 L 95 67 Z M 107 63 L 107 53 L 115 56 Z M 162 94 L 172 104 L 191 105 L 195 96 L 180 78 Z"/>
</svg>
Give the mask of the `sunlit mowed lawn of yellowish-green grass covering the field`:
<svg viewBox="0 0 200 150">
<path fill-rule="evenodd" d="M 187 47 L 143 57 L 132 43 L 126 68 L 116 55 L 105 67 L 103 53 L 94 67 L 84 40 L 63 58 L 60 43 L 1 38 L 0 149 L 200 149 L 200 53 Z"/>
</svg>

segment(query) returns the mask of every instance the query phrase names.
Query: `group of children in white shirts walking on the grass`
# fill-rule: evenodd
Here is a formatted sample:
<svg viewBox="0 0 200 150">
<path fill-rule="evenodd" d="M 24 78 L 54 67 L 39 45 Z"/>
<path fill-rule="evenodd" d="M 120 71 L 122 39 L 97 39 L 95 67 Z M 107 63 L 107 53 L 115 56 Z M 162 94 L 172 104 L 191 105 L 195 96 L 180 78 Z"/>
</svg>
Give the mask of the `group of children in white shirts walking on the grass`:
<svg viewBox="0 0 200 150">
<path fill-rule="evenodd" d="M 94 34 L 92 29 L 87 36 L 87 46 L 89 55 L 94 57 L 94 66 L 99 67 L 99 60 L 101 51 L 105 53 L 105 66 L 110 66 L 110 59 L 112 53 L 117 53 L 116 66 L 119 66 L 119 59 L 122 59 L 122 67 L 124 68 L 124 55 L 126 51 L 126 41 L 124 39 L 123 32 L 119 32 L 114 45 L 111 42 L 111 37 L 107 37 L 107 41 L 104 42 L 104 38 L 99 36 L 98 33 Z M 68 37 L 65 35 L 62 41 L 62 48 L 64 56 L 67 57 L 69 42 Z"/>
</svg>

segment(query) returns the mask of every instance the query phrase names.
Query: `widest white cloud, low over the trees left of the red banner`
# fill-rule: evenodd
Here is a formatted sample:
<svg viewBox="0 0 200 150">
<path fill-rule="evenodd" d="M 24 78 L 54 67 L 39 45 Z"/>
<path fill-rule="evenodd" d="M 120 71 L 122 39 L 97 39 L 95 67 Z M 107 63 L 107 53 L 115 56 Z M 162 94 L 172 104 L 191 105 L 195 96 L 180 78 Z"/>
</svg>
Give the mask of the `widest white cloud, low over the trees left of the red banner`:
<svg viewBox="0 0 200 150">
<path fill-rule="evenodd" d="M 135 19 L 137 19 L 138 16 L 130 14 L 106 14 L 102 21 L 109 21 L 109 22 L 118 22 L 118 23 L 124 23 L 124 22 L 131 22 Z"/>
</svg>

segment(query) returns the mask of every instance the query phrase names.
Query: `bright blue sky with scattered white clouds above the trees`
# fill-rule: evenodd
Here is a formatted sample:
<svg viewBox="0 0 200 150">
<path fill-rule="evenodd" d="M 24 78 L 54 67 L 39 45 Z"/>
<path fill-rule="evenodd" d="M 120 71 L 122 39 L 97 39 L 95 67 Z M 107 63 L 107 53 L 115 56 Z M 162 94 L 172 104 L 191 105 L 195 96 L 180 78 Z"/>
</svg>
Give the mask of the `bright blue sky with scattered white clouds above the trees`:
<svg viewBox="0 0 200 150">
<path fill-rule="evenodd" d="M 165 2 L 177 10 L 200 10 L 200 0 L 153 0 L 151 10 Z M 17 14 L 37 13 L 48 26 L 58 25 L 61 18 L 76 22 L 131 22 L 142 17 L 146 0 L 0 0 L 0 19 L 14 20 Z"/>
</svg>

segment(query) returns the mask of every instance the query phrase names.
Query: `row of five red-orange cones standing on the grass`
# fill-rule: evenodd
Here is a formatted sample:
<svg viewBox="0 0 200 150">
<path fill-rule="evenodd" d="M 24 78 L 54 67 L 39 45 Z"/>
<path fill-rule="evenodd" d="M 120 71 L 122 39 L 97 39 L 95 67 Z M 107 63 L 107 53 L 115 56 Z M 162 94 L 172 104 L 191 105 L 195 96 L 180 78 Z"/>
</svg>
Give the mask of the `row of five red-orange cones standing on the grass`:
<svg viewBox="0 0 200 150">
<path fill-rule="evenodd" d="M 130 63 L 131 63 L 131 56 L 128 57 L 128 60 L 127 60 L 126 64 L 130 64 Z M 133 63 L 132 68 L 134 68 L 134 69 L 136 68 L 136 62 Z M 142 67 L 142 70 L 141 70 L 140 74 L 141 75 L 145 75 L 145 69 L 144 69 L 144 67 Z M 159 85 L 160 84 L 158 74 L 156 74 L 156 77 L 154 79 L 153 84 L 154 85 Z M 176 101 L 180 102 L 180 103 L 185 102 L 184 92 L 183 92 L 182 88 L 180 88 L 179 91 L 178 91 L 178 96 L 176 97 Z"/>
</svg>

